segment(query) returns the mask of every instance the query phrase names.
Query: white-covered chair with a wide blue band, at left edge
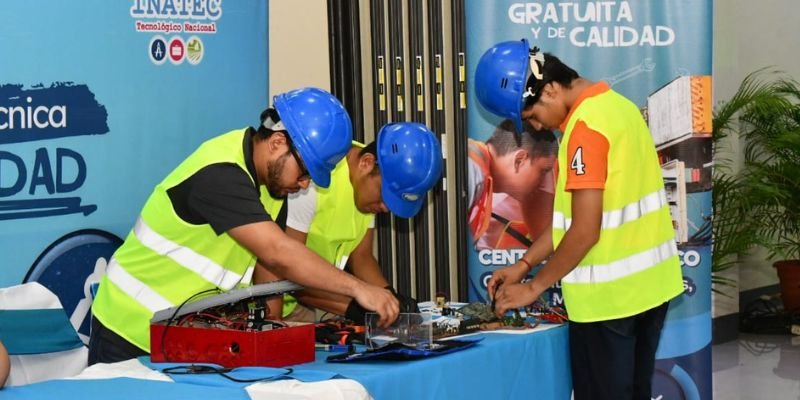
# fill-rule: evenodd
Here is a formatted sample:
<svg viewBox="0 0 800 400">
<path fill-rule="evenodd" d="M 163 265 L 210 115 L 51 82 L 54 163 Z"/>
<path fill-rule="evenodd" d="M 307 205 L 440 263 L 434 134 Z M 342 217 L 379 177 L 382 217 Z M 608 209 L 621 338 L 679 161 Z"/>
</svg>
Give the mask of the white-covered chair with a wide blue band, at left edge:
<svg viewBox="0 0 800 400">
<path fill-rule="evenodd" d="M 72 377 L 87 366 L 88 349 L 61 302 L 38 282 L 0 289 L 0 341 L 11 359 L 6 386 Z"/>
</svg>

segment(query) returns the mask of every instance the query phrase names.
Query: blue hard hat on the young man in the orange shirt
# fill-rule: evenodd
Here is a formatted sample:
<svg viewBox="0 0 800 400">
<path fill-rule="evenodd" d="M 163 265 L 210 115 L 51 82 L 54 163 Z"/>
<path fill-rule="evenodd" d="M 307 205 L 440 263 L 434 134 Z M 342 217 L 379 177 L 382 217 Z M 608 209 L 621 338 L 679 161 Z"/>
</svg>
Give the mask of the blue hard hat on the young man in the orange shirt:
<svg viewBox="0 0 800 400">
<path fill-rule="evenodd" d="M 475 69 L 475 95 L 478 102 L 522 129 L 522 94 L 530 76 L 527 39 L 500 42 L 483 53 Z"/>
</svg>

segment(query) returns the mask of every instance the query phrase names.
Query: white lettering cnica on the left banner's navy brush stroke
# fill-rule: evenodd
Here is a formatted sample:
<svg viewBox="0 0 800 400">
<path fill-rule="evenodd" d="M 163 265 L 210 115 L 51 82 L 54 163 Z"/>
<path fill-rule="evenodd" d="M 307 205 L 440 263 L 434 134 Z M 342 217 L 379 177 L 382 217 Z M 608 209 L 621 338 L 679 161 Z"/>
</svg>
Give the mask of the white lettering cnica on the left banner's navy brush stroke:
<svg viewBox="0 0 800 400">
<path fill-rule="evenodd" d="M 0 105 L 0 130 L 67 127 L 67 106 L 34 105 L 31 96 L 25 102 L 26 106 Z"/>
</svg>

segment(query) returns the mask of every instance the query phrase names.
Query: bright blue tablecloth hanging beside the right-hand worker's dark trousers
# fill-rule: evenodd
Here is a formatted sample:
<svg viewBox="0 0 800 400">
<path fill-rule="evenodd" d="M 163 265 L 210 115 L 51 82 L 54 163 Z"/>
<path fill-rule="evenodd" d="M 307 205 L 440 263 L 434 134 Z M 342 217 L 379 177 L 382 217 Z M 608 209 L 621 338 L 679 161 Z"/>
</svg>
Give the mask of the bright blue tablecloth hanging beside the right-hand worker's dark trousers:
<svg viewBox="0 0 800 400">
<path fill-rule="evenodd" d="M 328 363 L 332 353 L 296 370 L 328 370 L 358 381 L 376 400 L 555 399 L 572 393 L 567 327 L 529 334 L 482 333 L 477 345 L 416 361 Z"/>
</svg>

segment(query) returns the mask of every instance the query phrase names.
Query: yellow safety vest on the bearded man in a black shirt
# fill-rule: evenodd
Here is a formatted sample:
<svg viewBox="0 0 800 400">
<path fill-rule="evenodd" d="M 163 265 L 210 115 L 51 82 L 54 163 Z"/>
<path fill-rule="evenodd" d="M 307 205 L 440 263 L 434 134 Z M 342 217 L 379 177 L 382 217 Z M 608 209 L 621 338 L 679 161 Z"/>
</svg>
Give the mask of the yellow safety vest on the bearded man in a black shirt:
<svg viewBox="0 0 800 400">
<path fill-rule="evenodd" d="M 145 351 L 150 349 L 150 319 L 156 311 L 205 290 L 251 283 L 255 256 L 227 233 L 217 235 L 208 224 L 183 221 L 167 194 L 211 164 L 235 163 L 247 172 L 242 151 L 246 132 L 239 129 L 206 141 L 155 187 L 100 280 L 94 316 Z M 255 180 L 253 185 L 259 190 Z M 265 210 L 277 216 L 283 200 L 260 193 Z"/>
</svg>

